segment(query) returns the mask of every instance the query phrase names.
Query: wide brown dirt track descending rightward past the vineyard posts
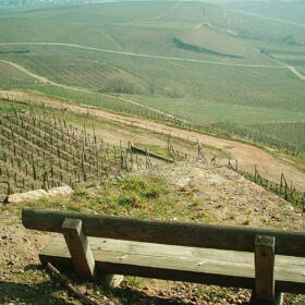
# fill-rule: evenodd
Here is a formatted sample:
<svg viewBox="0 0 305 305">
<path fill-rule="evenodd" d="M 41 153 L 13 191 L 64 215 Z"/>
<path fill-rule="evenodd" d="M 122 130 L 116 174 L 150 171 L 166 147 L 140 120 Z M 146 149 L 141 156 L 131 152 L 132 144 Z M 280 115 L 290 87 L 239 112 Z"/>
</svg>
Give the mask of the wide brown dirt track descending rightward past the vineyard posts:
<svg viewBox="0 0 305 305">
<path fill-rule="evenodd" d="M 0 96 L 7 97 L 8 94 L 10 96 L 15 96 L 17 99 L 25 99 L 28 100 L 30 98 L 30 95 L 27 93 L 22 91 L 5 91 L 0 90 Z M 32 96 L 33 97 L 33 96 Z M 56 100 L 56 99 L 46 99 L 40 97 L 40 99 L 35 97 L 35 99 L 38 101 L 44 101 L 52 106 L 61 107 L 62 101 Z M 196 132 L 190 132 L 185 130 L 180 130 L 178 127 L 168 126 L 161 123 L 156 123 L 152 121 L 148 121 L 141 118 L 133 118 L 133 117 L 126 117 L 126 115 L 120 115 L 114 113 L 109 113 L 101 109 L 96 108 L 88 108 L 85 106 L 75 106 L 75 105 L 64 105 L 65 108 L 68 108 L 71 111 L 78 112 L 78 113 L 89 113 L 91 115 L 101 117 L 103 119 L 112 120 L 115 122 L 120 122 L 123 124 L 133 124 L 136 127 L 147 129 L 150 131 L 156 131 L 159 133 L 166 133 L 171 134 L 173 136 L 178 136 L 181 138 L 188 138 L 194 142 L 197 142 L 197 139 L 206 145 L 220 148 L 228 154 L 232 156 L 233 159 L 239 160 L 240 168 L 253 172 L 254 167 L 257 166 L 259 173 L 273 181 L 279 182 L 281 173 L 284 173 L 284 175 L 288 179 L 288 182 L 291 183 L 298 190 L 298 191 L 305 191 L 305 171 L 297 169 L 293 162 L 290 162 L 289 160 L 273 157 L 271 154 L 267 152 L 264 149 L 260 149 L 258 147 L 252 146 L 249 144 L 244 144 L 241 142 L 235 142 L 231 139 L 223 139 L 218 138 L 209 135 L 204 135 Z M 228 160 L 220 160 L 219 162 L 227 162 Z"/>
</svg>

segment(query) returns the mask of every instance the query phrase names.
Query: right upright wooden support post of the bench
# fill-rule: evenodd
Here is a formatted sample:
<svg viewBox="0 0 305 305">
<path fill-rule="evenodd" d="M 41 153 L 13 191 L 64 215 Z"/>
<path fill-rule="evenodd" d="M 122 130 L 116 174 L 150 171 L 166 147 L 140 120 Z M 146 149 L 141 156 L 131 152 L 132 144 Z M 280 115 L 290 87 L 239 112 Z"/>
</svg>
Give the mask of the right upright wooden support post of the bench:
<svg viewBox="0 0 305 305">
<path fill-rule="evenodd" d="M 274 246 L 272 236 L 257 235 L 255 239 L 255 303 L 272 305 L 276 296 Z"/>
</svg>

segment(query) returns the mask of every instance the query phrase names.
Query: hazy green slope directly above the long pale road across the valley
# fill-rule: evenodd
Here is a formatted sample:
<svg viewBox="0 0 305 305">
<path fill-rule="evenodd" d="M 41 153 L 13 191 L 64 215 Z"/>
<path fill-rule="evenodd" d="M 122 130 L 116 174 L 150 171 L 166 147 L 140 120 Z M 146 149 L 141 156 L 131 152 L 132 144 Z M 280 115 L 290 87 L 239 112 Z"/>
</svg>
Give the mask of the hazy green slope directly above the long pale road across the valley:
<svg viewBox="0 0 305 305">
<path fill-rule="evenodd" d="M 202 8 L 199 3 L 183 3 L 171 10 L 172 5 L 173 3 L 159 2 L 121 3 L 120 5 L 103 4 L 17 14 L 17 19 L 14 16 L 14 19 L 1 20 L 3 32 L 0 40 L 80 44 L 148 54 L 179 56 L 230 63 L 272 64 L 242 40 L 234 40 L 223 30 L 206 28 L 204 34 L 203 29 L 198 33 L 194 30 L 194 27 L 203 22 L 203 16 L 198 15 L 198 10 Z M 169 15 L 163 13 L 159 16 L 161 11 L 168 11 Z M 190 13 L 188 19 L 184 17 L 185 11 Z M 175 16 L 174 20 L 172 20 L 172 14 Z M 194 38 L 197 37 L 197 40 L 200 40 L 203 35 L 212 36 L 213 46 L 207 45 L 207 48 L 229 53 L 242 49 L 243 54 L 246 52 L 246 58 L 234 61 L 174 47 L 172 42 L 174 36 L 191 35 Z M 225 47 L 223 47 L 223 41 L 225 41 Z M 203 46 L 200 41 L 197 44 Z"/>
</svg>

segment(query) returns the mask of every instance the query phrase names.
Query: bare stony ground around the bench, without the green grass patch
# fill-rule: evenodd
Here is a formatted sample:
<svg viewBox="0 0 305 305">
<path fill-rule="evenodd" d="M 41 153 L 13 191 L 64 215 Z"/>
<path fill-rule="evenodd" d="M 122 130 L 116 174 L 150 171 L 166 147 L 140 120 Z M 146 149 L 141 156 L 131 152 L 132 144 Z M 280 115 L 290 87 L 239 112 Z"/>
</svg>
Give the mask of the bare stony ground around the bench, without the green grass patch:
<svg viewBox="0 0 305 305">
<path fill-rule="evenodd" d="M 172 190 L 170 198 L 176 198 L 174 211 L 170 209 L 168 215 L 157 215 L 156 218 L 304 230 L 301 211 L 235 172 L 213 163 L 180 162 L 138 171 L 131 175 L 160 176 Z M 117 187 L 113 181 L 112 185 Z M 88 200 L 100 194 L 106 194 L 105 188 L 90 191 L 87 195 Z M 76 205 L 80 199 L 64 200 L 62 208 L 68 208 L 70 202 Z M 163 197 L 160 198 L 160 202 L 162 200 Z M 39 203 L 39 206 L 46 207 L 54 205 L 59 205 L 59 202 Z M 102 205 L 103 203 L 101 212 L 106 212 Z M 50 234 L 25 230 L 20 220 L 22 207 L 21 204 L 5 205 L 0 211 L 0 304 L 81 304 L 57 281 L 51 280 L 49 273 L 40 266 L 38 253 L 48 243 Z M 138 206 L 134 207 L 134 212 L 138 209 Z M 133 210 L 129 210 L 129 215 L 134 216 Z M 151 218 L 155 218 L 155 215 Z M 106 290 L 98 283 L 80 283 L 73 274 L 64 273 L 73 284 L 98 304 L 224 305 L 243 304 L 249 298 L 249 292 L 246 290 L 138 278 L 126 278 L 119 288 Z M 305 304 L 305 298 L 300 295 L 285 295 L 285 304 Z"/>
</svg>

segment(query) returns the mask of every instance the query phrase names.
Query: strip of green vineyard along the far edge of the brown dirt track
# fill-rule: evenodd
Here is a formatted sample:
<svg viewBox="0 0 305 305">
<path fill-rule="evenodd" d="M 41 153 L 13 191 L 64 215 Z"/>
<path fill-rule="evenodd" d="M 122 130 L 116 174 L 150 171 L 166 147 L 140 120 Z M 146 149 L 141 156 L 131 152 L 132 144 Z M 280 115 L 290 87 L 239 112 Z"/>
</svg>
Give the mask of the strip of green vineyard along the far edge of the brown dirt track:
<svg viewBox="0 0 305 305">
<path fill-rule="evenodd" d="M 14 100 L 7 96 L 7 100 Z M 168 125 L 178 126 L 190 131 L 203 132 L 219 136 L 237 136 L 260 143 L 270 148 L 281 150 L 292 156 L 305 155 L 305 121 L 304 122 L 269 122 L 269 123 L 240 123 L 240 122 L 217 122 L 200 123 L 192 121 L 185 115 L 166 114 L 129 102 L 100 100 L 101 107 L 119 113 L 135 114 Z M 88 107 L 89 111 L 89 107 Z"/>
</svg>

